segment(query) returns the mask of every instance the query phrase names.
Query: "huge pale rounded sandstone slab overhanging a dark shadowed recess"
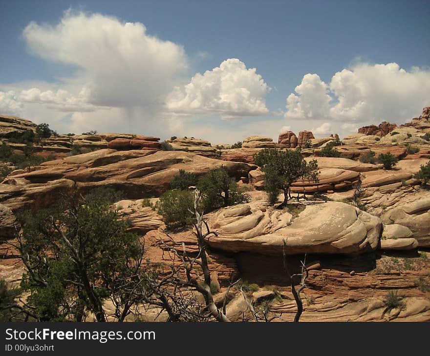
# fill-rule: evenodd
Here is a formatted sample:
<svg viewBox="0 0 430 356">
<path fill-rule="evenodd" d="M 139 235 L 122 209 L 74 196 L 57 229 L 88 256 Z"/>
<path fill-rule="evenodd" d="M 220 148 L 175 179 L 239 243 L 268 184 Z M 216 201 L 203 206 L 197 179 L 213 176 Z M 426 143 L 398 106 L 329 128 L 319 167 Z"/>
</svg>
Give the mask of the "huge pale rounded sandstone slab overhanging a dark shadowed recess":
<svg viewBox="0 0 430 356">
<path fill-rule="evenodd" d="M 288 211 L 254 201 L 208 215 L 211 247 L 233 252 L 282 254 L 352 254 L 375 250 L 382 222 L 379 218 L 341 202 L 306 202 L 294 218 Z"/>
</svg>

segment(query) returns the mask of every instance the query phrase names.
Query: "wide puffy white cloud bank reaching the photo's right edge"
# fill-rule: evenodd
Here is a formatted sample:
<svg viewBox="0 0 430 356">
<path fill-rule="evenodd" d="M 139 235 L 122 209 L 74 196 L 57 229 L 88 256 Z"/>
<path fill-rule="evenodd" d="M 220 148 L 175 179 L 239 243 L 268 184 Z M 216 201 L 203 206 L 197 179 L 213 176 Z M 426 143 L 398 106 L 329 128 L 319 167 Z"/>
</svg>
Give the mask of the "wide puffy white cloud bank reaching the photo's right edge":
<svg viewBox="0 0 430 356">
<path fill-rule="evenodd" d="M 359 63 L 337 72 L 329 84 L 306 74 L 295 91 L 287 98 L 285 118 L 339 120 L 352 131 L 360 124 L 403 123 L 419 115 L 430 104 L 430 71 Z"/>
</svg>

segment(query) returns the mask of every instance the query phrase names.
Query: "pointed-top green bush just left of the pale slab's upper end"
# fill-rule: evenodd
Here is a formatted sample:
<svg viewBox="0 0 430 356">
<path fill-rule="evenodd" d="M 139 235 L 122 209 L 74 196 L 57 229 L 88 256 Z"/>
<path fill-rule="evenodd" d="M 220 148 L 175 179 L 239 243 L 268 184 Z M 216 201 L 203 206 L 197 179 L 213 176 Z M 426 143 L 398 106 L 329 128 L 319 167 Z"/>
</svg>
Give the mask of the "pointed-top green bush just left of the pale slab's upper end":
<svg viewBox="0 0 430 356">
<path fill-rule="evenodd" d="M 248 201 L 246 194 L 238 188 L 235 180 L 224 168 L 209 172 L 207 176 L 200 179 L 197 187 L 202 192 L 202 204 L 206 213 Z"/>
</svg>

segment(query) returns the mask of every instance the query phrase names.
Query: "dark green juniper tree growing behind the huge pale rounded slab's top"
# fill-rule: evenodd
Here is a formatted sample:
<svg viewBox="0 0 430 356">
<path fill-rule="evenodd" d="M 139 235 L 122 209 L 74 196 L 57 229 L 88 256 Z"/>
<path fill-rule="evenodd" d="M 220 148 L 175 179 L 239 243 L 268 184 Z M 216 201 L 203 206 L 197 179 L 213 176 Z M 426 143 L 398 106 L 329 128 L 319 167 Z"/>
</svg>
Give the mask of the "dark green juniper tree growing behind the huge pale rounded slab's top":
<svg viewBox="0 0 430 356">
<path fill-rule="evenodd" d="M 279 190 L 282 190 L 285 205 L 291 184 L 299 178 L 318 182 L 317 160 L 307 163 L 299 150 L 265 148 L 254 155 L 254 161 L 264 172 L 264 189 L 271 203 L 276 202 Z"/>
</svg>

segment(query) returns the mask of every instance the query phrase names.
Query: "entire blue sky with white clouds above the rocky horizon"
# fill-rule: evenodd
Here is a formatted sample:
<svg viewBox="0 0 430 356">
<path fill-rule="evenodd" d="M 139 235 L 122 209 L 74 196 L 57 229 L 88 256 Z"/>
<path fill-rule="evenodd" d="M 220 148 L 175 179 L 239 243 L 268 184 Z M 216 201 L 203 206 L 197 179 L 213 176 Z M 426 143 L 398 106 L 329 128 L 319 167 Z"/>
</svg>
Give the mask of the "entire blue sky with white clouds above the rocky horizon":
<svg viewBox="0 0 430 356">
<path fill-rule="evenodd" d="M 67 9 L 71 12 L 65 15 Z M 79 14 L 84 18 L 75 28 L 70 19 Z M 124 31 L 108 49 L 106 41 L 95 42 L 100 36 L 94 35 L 93 45 L 85 43 L 85 36 L 70 36 L 103 31 L 102 22 L 91 18 L 94 14 L 102 20 L 115 18 L 118 31 Z M 70 23 L 56 27 L 66 16 Z M 296 134 L 313 129 L 324 136 L 353 133 L 383 119 L 402 123 L 430 105 L 429 17 L 430 1 L 3 0 L 0 111 L 49 122 L 59 132 L 89 127 L 162 138 L 194 135 L 214 143 L 252 134 L 276 138 L 288 128 Z M 35 26 L 29 28 L 32 21 Z M 142 66 L 170 58 L 166 41 L 176 46 L 160 76 L 140 68 L 135 57 L 120 58 L 123 52 L 110 56 L 109 50 L 121 47 L 123 38 L 133 47 L 147 43 L 129 36 L 126 22 L 142 23 L 143 37 L 164 43 L 155 55 L 145 48 L 136 51 Z M 112 33 L 105 36 L 112 38 Z M 67 49 L 97 51 L 99 64 Z M 239 59 L 243 66 L 232 61 L 213 71 L 228 59 Z M 99 71 L 104 65 L 107 69 Z M 127 67 L 139 80 L 121 77 Z M 250 68 L 256 68 L 254 75 Z M 205 71 L 212 72 L 192 82 Z M 231 85 L 220 84 L 230 78 Z M 190 82 L 193 88 L 187 92 Z M 208 92 L 208 83 L 214 82 L 218 87 Z M 149 93 L 151 87 L 156 97 Z M 37 95 L 28 93 L 33 88 Z M 89 88 L 85 95 L 83 88 Z M 67 94 L 53 95 L 58 90 Z M 73 105 L 64 105 L 65 100 Z"/>
</svg>

